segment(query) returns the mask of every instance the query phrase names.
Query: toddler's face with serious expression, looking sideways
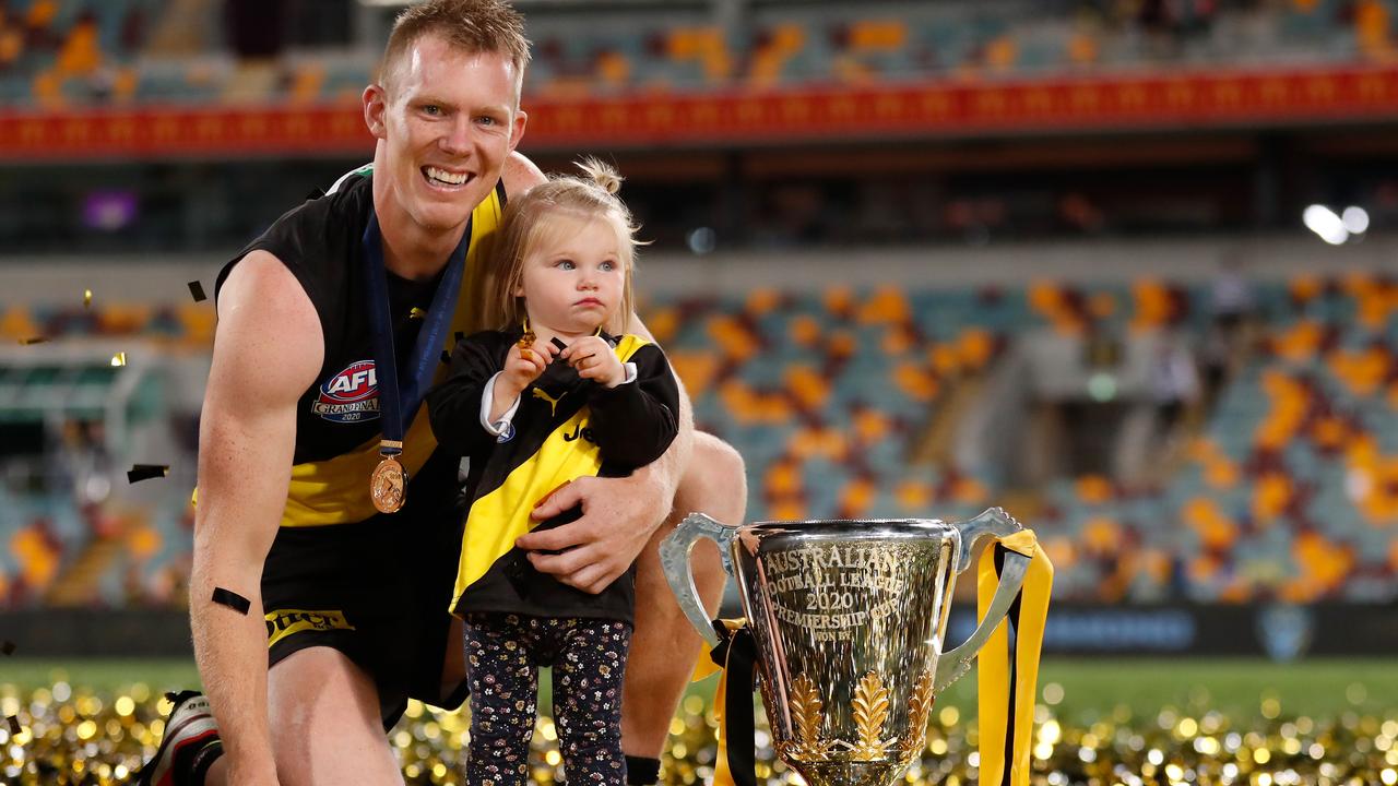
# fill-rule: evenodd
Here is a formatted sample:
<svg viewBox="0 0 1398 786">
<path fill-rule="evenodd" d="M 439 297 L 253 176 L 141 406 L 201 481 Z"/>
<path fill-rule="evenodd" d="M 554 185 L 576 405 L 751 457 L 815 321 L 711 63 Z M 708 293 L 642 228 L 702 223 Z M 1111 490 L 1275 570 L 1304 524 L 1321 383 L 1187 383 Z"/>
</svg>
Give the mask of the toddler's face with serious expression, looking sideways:
<svg viewBox="0 0 1398 786">
<path fill-rule="evenodd" d="M 516 296 L 524 298 L 530 324 L 580 336 L 604 324 L 621 305 L 626 271 L 617 228 L 604 217 L 559 213 L 524 257 Z"/>
</svg>

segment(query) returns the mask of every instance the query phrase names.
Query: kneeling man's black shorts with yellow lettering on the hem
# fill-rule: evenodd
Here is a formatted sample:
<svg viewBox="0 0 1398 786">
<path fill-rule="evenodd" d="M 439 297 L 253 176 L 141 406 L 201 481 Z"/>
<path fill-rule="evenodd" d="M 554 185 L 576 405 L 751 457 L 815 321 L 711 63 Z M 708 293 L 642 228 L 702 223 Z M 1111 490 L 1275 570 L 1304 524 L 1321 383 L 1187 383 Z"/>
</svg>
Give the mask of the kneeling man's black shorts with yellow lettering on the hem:
<svg viewBox="0 0 1398 786">
<path fill-rule="evenodd" d="M 408 698 L 466 701 L 464 681 L 442 695 L 461 519 L 407 513 L 281 527 L 263 568 L 268 664 L 313 646 L 343 652 L 377 685 L 384 729 Z"/>
</svg>

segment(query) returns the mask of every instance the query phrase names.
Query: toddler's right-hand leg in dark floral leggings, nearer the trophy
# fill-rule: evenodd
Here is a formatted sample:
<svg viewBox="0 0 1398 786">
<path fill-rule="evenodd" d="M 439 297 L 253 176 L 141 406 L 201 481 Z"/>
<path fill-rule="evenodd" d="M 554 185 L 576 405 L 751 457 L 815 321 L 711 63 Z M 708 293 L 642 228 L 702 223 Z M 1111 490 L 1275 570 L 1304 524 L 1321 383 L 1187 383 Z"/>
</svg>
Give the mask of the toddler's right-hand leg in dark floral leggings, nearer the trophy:
<svg viewBox="0 0 1398 786">
<path fill-rule="evenodd" d="M 621 688 L 630 648 L 630 624 L 561 620 L 554 662 L 554 723 L 570 786 L 625 783 L 621 752 Z"/>
</svg>

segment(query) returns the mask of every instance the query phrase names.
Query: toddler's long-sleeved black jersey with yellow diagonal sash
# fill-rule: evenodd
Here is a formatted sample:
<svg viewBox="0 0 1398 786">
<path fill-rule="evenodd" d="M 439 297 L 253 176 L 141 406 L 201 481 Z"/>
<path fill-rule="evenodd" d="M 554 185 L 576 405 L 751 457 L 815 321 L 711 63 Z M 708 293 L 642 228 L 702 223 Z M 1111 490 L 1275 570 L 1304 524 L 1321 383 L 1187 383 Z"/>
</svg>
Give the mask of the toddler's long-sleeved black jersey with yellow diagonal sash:
<svg viewBox="0 0 1398 786">
<path fill-rule="evenodd" d="M 535 524 L 534 505 L 584 476 L 622 477 L 660 457 L 678 429 L 679 389 L 660 347 L 637 336 L 607 337 L 636 379 L 607 389 L 554 362 L 520 396 L 513 435 L 481 424 L 485 385 L 505 368 L 520 331 L 477 333 L 452 355 L 447 379 L 428 393 L 432 431 L 443 450 L 470 457 L 466 522 L 452 611 L 632 620 L 635 566 L 601 594 L 540 573 L 514 548 L 531 529 L 576 520 L 577 509 Z M 503 442 L 500 439 L 505 439 Z"/>
</svg>

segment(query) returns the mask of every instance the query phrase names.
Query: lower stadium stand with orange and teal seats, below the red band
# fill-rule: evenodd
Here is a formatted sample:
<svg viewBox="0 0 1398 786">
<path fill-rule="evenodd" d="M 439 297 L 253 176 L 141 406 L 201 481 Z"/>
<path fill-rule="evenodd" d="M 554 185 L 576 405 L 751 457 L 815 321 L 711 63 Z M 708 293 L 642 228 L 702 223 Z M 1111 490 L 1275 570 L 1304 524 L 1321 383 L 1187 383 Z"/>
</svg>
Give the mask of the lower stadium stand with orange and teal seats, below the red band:
<svg viewBox="0 0 1398 786">
<path fill-rule="evenodd" d="M 1058 565 L 1058 597 L 1391 600 L 1398 284 L 1373 274 L 1250 284 L 1254 306 L 1239 322 L 1219 319 L 1215 298 L 1209 285 L 1156 280 L 836 285 L 661 296 L 644 313 L 686 380 L 698 424 L 747 457 L 752 519 L 959 517 L 1012 499 Z M 13 306 L 0 324 L 8 340 L 20 326 L 196 348 L 207 347 L 207 313 Z M 1230 326 L 1229 369 L 1148 441 L 1155 471 L 1121 480 L 1069 470 L 1026 487 L 1005 467 L 959 457 L 958 424 L 988 406 L 984 392 L 1028 337 L 1174 331 L 1188 362 L 1206 366 L 1220 324 Z M 95 369 L 31 371 L 24 386 L 52 399 L 53 385 L 34 379 L 43 373 L 81 386 Z M 7 368 L 3 380 L 15 385 L 17 375 Z M 15 512 L 3 529 L 7 603 L 36 601 L 85 558 L 91 575 L 77 603 L 178 596 L 190 526 L 182 494 L 141 515 L 109 512 L 102 531 L 59 491 L 4 506 Z M 98 545 L 101 559 L 84 557 Z"/>
</svg>

